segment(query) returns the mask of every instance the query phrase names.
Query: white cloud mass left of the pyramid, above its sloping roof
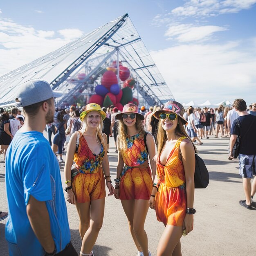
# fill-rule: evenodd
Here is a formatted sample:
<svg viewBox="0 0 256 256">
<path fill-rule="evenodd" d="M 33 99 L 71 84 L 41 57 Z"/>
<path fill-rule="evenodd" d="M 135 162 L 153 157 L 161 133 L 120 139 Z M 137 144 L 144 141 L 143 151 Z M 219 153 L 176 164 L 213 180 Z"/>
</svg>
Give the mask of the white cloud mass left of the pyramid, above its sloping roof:
<svg viewBox="0 0 256 256">
<path fill-rule="evenodd" d="M 0 76 L 30 63 L 82 35 L 82 31 L 78 29 L 63 29 L 61 31 L 64 39 L 61 36 L 56 37 L 54 31 L 36 30 L 33 27 L 26 27 L 13 22 L 13 20 L 0 17 L 0 56 L 2 60 Z M 67 32 L 65 33 L 65 31 Z"/>
</svg>

